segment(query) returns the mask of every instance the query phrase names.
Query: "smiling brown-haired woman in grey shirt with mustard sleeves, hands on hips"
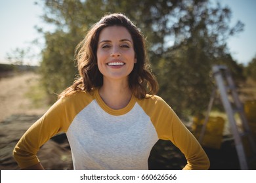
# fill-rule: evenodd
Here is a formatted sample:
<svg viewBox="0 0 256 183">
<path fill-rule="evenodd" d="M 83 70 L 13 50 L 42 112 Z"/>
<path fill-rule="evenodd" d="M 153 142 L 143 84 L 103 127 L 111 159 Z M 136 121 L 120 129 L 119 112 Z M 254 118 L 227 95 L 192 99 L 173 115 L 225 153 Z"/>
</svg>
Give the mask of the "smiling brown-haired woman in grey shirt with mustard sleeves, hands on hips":
<svg viewBox="0 0 256 183">
<path fill-rule="evenodd" d="M 66 132 L 74 169 L 148 169 L 159 139 L 184 154 L 184 169 L 208 169 L 209 159 L 171 107 L 156 94 L 144 39 L 123 14 L 93 25 L 77 46 L 80 78 L 60 94 L 14 148 L 22 169 L 43 169 L 37 151 Z"/>
</svg>

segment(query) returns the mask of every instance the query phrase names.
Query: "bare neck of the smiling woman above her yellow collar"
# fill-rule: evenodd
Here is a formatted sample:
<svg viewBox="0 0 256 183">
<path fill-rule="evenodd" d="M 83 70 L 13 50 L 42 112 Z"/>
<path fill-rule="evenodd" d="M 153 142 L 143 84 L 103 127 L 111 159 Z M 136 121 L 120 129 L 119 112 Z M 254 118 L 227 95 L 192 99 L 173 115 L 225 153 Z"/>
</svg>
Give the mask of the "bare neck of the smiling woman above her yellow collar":
<svg viewBox="0 0 256 183">
<path fill-rule="evenodd" d="M 112 109 L 121 109 L 128 105 L 131 100 L 131 89 L 128 81 L 108 81 L 104 80 L 103 86 L 99 89 L 99 94 L 104 103 Z"/>
</svg>

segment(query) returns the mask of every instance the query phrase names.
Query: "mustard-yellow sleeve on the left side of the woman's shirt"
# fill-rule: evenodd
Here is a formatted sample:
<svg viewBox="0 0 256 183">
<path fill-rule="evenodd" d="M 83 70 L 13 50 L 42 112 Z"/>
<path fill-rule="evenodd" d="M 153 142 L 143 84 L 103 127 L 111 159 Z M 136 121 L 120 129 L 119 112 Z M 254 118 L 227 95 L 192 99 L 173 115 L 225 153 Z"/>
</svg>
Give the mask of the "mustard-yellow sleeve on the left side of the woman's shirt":
<svg viewBox="0 0 256 183">
<path fill-rule="evenodd" d="M 37 152 L 51 137 L 66 132 L 77 113 L 85 107 L 81 97 L 76 93 L 70 97 L 58 99 L 49 110 L 35 122 L 16 144 L 12 154 L 20 168 L 30 167 L 39 162 Z"/>
</svg>

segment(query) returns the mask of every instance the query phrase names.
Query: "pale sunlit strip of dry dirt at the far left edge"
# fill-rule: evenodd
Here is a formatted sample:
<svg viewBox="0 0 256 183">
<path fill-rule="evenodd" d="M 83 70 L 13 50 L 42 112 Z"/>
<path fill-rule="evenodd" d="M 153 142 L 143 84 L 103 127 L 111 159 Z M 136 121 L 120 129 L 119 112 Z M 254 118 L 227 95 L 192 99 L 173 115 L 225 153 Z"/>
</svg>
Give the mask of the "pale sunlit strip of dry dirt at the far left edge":
<svg viewBox="0 0 256 183">
<path fill-rule="evenodd" d="M 0 122 L 13 114 L 43 114 L 47 108 L 35 108 L 26 93 L 39 80 L 35 73 L 0 78 Z"/>
</svg>

